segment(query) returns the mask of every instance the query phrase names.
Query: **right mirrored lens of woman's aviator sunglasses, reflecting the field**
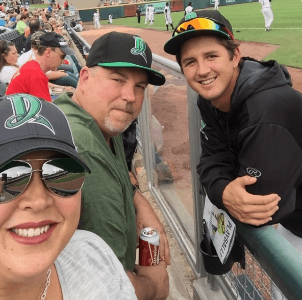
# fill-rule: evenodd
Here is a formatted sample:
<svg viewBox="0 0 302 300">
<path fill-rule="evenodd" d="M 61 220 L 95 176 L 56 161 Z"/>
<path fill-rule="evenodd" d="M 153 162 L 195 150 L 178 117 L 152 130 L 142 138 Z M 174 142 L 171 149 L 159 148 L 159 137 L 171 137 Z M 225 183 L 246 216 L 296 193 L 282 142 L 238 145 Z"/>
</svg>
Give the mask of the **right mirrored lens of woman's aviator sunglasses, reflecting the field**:
<svg viewBox="0 0 302 300">
<path fill-rule="evenodd" d="M 53 193 L 61 197 L 71 197 L 82 188 L 85 171 L 74 159 L 60 158 L 44 163 L 43 178 Z"/>
</svg>

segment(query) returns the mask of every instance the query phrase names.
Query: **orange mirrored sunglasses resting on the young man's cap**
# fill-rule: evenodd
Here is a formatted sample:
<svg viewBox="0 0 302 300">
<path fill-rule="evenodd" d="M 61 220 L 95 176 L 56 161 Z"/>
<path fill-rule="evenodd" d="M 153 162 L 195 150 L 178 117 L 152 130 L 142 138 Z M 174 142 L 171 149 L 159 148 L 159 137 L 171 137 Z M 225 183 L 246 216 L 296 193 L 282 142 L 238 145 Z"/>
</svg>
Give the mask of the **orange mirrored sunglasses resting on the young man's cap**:
<svg viewBox="0 0 302 300">
<path fill-rule="evenodd" d="M 211 19 L 206 18 L 194 18 L 189 19 L 181 23 L 173 32 L 173 37 L 177 36 L 178 34 L 184 33 L 189 30 L 211 30 L 217 31 L 224 34 L 229 39 L 235 41 L 235 38 L 232 32 L 226 28 L 223 24 L 218 23 L 217 21 L 213 21 Z"/>
</svg>

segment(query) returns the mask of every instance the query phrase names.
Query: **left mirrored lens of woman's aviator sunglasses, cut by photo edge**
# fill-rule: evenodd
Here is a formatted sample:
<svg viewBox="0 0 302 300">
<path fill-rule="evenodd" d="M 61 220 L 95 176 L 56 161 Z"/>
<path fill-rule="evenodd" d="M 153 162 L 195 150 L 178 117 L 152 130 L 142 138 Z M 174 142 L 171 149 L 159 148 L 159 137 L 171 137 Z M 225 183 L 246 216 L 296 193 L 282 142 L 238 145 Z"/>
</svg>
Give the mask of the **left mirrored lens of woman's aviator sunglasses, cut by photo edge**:
<svg viewBox="0 0 302 300">
<path fill-rule="evenodd" d="M 0 170 L 0 203 L 16 198 L 27 186 L 31 167 L 26 162 L 11 161 Z"/>
</svg>

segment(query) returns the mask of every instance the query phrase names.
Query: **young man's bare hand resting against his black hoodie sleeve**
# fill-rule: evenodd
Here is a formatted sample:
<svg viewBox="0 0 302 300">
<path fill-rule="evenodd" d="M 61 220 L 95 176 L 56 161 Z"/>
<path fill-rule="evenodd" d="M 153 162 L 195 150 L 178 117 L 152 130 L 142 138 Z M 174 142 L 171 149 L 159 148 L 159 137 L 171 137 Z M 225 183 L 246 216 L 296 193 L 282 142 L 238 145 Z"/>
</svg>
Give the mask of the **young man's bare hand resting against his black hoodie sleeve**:
<svg viewBox="0 0 302 300">
<path fill-rule="evenodd" d="M 281 198 L 277 194 L 265 196 L 246 192 L 245 185 L 254 184 L 257 178 L 238 177 L 223 190 L 222 202 L 237 220 L 250 225 L 263 225 L 272 220 L 272 215 L 279 209 Z"/>
</svg>

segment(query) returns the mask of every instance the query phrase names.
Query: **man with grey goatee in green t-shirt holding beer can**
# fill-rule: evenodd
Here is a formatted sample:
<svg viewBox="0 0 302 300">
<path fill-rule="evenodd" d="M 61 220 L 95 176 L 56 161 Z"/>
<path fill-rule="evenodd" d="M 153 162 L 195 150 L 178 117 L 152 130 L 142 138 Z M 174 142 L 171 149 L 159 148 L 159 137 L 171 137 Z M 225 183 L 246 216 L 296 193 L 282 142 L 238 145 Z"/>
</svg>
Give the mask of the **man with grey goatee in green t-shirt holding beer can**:
<svg viewBox="0 0 302 300">
<path fill-rule="evenodd" d="M 80 228 L 108 242 L 128 269 L 139 300 L 166 299 L 169 290 L 165 230 L 148 201 L 139 192 L 133 195 L 120 136 L 139 114 L 148 83 L 165 83 L 161 73 L 150 69 L 151 63 L 152 52 L 140 37 L 105 34 L 92 44 L 75 93 L 54 101 L 69 119 L 79 154 L 97 174 L 87 176 L 83 186 L 89 206 L 83 219 L 89 223 Z M 148 226 L 159 231 L 162 260 L 156 266 L 135 266 L 136 238 Z"/>
</svg>

